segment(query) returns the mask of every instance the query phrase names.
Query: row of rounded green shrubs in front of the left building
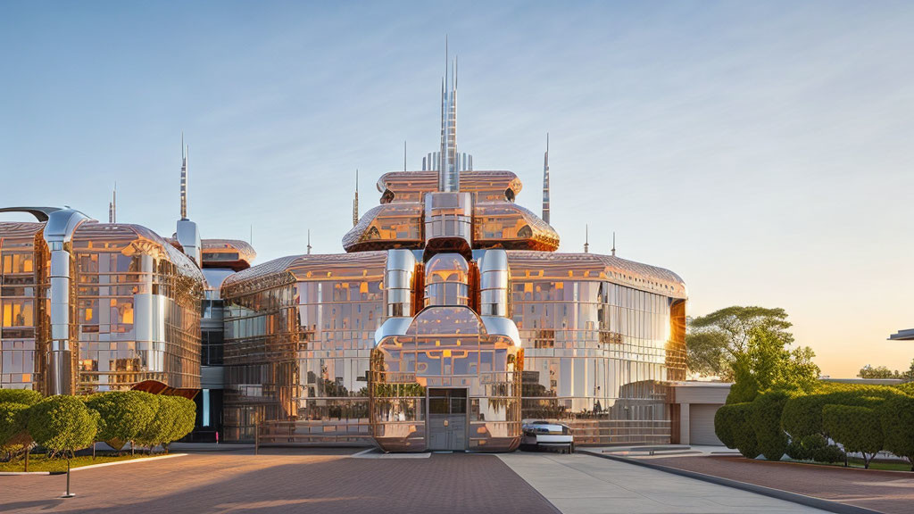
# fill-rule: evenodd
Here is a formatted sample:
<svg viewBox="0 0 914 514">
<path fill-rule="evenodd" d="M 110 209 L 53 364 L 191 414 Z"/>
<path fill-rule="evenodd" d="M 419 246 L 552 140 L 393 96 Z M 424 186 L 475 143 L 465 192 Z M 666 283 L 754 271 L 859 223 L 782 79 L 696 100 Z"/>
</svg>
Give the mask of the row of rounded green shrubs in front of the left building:
<svg viewBox="0 0 914 514">
<path fill-rule="evenodd" d="M 0 449 L 7 457 L 38 444 L 72 453 L 101 441 L 121 450 L 128 442 L 152 449 L 194 429 L 197 408 L 178 396 L 108 391 L 90 396 L 50 396 L 0 390 Z"/>
</svg>

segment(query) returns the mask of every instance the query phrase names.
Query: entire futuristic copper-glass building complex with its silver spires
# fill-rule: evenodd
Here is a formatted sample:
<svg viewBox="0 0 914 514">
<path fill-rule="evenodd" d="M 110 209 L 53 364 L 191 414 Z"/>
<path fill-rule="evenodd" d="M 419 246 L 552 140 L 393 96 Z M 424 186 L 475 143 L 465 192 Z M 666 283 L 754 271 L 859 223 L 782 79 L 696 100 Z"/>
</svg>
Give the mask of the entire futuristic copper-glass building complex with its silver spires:
<svg viewBox="0 0 914 514">
<path fill-rule="evenodd" d="M 244 241 L 201 240 L 186 153 L 173 238 L 113 205 L 107 224 L 0 223 L 0 387 L 182 393 L 229 441 L 510 451 L 523 420 L 553 419 L 578 444 L 670 442 L 685 284 L 558 253 L 548 150 L 537 216 L 514 173 L 458 152 L 456 92 L 446 73 L 422 169 L 380 177 L 362 216 L 356 196 L 343 253 L 251 266 Z"/>
</svg>

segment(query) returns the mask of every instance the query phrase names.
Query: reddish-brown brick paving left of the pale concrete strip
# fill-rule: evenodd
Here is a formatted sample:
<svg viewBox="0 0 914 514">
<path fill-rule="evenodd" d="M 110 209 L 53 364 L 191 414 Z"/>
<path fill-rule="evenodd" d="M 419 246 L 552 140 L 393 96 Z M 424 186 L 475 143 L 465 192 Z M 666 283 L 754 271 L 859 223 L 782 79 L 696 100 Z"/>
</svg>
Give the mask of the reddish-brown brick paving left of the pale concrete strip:
<svg viewBox="0 0 914 514">
<path fill-rule="evenodd" d="M 56 498 L 64 476 L 0 477 L 0 512 L 558 512 L 494 455 L 348 458 L 358 451 L 264 448 L 83 469 L 70 499 Z"/>
</svg>

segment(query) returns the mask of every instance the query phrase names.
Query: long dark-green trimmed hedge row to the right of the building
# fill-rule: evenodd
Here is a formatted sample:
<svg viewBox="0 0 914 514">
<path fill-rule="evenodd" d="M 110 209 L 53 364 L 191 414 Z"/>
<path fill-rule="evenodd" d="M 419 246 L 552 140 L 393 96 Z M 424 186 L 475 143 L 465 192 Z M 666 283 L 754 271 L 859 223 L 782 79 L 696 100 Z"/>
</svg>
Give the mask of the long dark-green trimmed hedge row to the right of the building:
<svg viewBox="0 0 914 514">
<path fill-rule="evenodd" d="M 721 407 L 714 426 L 723 444 L 749 458 L 839 462 L 846 451 L 864 455 L 869 467 L 887 450 L 914 465 L 914 386 L 825 382 L 811 393 L 766 391 Z"/>
</svg>

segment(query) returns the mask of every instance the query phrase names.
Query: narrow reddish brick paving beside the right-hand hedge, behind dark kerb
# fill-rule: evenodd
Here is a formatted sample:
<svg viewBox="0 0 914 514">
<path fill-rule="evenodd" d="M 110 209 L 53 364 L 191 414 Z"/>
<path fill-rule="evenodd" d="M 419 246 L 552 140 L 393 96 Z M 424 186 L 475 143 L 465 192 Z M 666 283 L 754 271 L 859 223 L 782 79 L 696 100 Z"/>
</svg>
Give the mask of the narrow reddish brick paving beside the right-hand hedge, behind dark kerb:
<svg viewBox="0 0 914 514">
<path fill-rule="evenodd" d="M 813 466 L 749 460 L 736 456 L 655 456 L 651 463 L 830 499 L 880 512 L 914 512 L 914 473 L 904 471 Z"/>
</svg>

